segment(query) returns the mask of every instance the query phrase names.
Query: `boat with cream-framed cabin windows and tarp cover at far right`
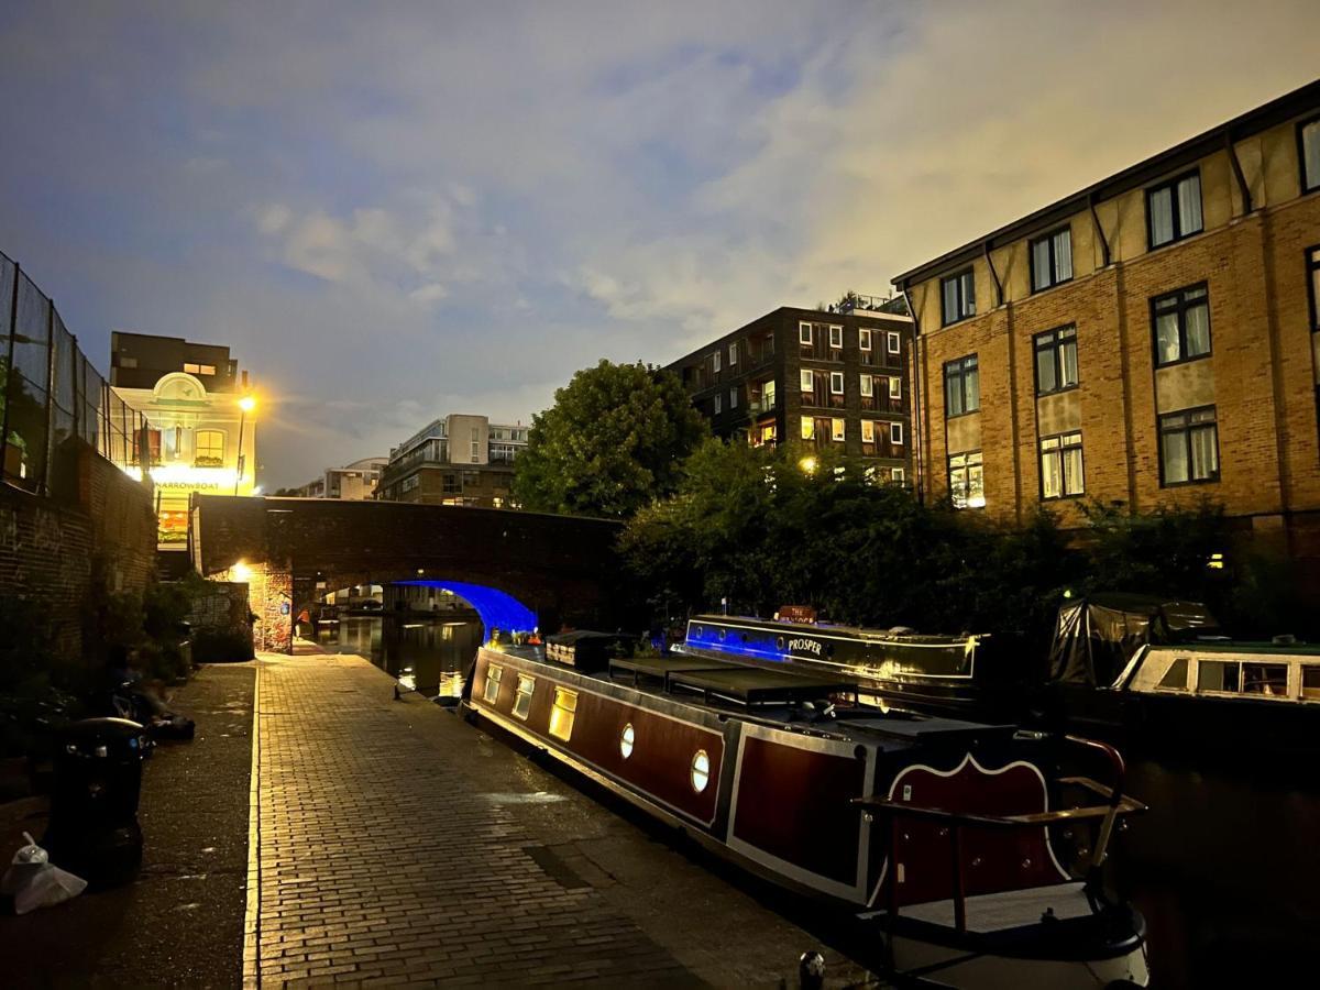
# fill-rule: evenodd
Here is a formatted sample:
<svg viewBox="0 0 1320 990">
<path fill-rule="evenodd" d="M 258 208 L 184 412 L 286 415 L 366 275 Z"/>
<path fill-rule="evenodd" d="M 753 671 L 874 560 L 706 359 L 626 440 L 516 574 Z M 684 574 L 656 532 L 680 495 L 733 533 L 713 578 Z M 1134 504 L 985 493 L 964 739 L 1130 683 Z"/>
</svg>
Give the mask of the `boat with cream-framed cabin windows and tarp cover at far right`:
<svg viewBox="0 0 1320 990">
<path fill-rule="evenodd" d="M 1320 645 L 1234 640 L 1197 602 L 1096 595 L 1059 611 L 1047 710 L 1143 744 L 1320 746 Z"/>
</svg>

